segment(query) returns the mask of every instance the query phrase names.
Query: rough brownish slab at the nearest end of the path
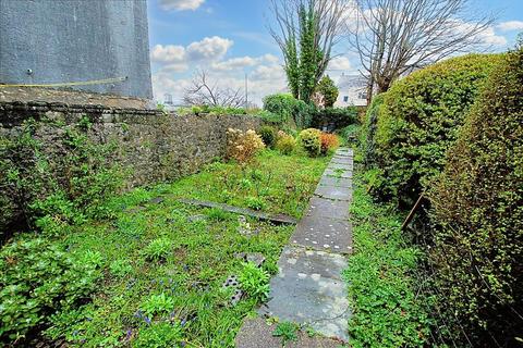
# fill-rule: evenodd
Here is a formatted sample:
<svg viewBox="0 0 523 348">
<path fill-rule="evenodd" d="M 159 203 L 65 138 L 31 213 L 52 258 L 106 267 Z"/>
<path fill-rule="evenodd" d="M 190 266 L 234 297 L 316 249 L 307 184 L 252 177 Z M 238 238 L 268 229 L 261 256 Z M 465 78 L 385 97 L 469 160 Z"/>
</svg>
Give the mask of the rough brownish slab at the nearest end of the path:
<svg viewBox="0 0 523 348">
<path fill-rule="evenodd" d="M 264 319 L 246 319 L 236 335 L 236 348 L 281 348 L 281 338 L 272 336 L 276 324 L 268 325 Z M 297 340 L 290 341 L 285 348 L 338 348 L 342 341 L 327 337 L 309 337 L 306 333 L 297 333 Z"/>
</svg>

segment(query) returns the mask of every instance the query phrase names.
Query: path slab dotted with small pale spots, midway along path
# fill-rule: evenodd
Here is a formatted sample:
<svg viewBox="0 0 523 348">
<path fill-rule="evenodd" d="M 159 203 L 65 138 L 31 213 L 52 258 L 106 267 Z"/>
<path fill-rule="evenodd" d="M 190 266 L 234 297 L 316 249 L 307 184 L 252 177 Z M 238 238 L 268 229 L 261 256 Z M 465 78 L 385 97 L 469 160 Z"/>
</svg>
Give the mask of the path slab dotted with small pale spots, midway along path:
<svg viewBox="0 0 523 348">
<path fill-rule="evenodd" d="M 309 217 L 300 221 L 291 244 L 329 252 L 352 252 L 352 225 L 350 221 Z"/>
</svg>

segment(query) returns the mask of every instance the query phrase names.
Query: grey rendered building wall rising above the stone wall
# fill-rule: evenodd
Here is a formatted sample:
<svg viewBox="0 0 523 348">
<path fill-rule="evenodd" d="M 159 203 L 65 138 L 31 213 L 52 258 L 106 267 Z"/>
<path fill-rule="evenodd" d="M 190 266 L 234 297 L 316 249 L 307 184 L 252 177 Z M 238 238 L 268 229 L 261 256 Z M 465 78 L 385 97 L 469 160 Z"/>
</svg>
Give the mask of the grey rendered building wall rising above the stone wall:
<svg viewBox="0 0 523 348">
<path fill-rule="evenodd" d="M 153 98 L 146 0 L 0 0 L 0 84 L 85 82 Z"/>
</svg>

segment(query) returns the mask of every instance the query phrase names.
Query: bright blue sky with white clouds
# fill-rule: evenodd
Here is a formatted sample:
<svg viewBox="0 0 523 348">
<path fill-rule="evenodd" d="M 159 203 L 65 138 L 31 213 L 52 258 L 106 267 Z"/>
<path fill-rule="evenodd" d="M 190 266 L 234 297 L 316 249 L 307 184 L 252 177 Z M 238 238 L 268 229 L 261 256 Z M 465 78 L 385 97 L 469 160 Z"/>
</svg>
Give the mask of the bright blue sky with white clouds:
<svg viewBox="0 0 523 348">
<path fill-rule="evenodd" d="M 472 15 L 494 14 L 496 23 L 482 36 L 490 51 L 514 46 L 523 32 L 522 0 L 470 0 Z M 211 84 L 244 89 L 262 105 L 264 96 L 284 91 L 287 82 L 279 47 L 269 34 L 269 0 L 147 0 L 153 89 L 157 101 L 172 95 L 181 103 L 198 71 Z M 328 74 L 358 74 L 358 58 L 343 40 Z"/>
</svg>

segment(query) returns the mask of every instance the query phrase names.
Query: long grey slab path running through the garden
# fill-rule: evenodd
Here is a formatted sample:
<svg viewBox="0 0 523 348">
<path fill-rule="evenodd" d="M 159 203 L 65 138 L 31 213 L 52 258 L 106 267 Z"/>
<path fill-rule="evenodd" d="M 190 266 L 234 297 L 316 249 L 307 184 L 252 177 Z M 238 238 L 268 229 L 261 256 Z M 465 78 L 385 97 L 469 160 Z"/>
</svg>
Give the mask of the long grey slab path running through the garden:
<svg viewBox="0 0 523 348">
<path fill-rule="evenodd" d="M 258 313 L 308 325 L 326 337 L 346 341 L 350 316 L 346 285 L 341 272 L 352 251 L 349 206 L 352 200 L 352 150 L 339 149 L 321 177 L 291 243 L 278 261 L 270 282 L 270 300 Z M 246 321 L 236 337 L 238 348 L 262 347 L 267 330 L 252 330 Z M 312 343 L 309 343 L 312 344 Z M 329 346 L 329 341 L 306 347 Z M 279 346 L 264 346 L 279 347 Z"/>
</svg>

